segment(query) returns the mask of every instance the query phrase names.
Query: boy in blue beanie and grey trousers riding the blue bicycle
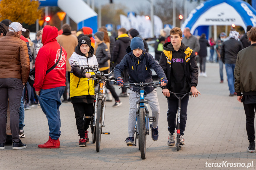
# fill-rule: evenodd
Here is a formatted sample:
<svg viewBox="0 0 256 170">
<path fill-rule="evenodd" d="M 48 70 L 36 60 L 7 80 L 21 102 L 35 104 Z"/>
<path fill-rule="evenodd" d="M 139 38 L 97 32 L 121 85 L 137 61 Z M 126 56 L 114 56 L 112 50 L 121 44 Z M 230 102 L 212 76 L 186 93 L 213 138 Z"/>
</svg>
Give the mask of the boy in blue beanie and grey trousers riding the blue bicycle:
<svg viewBox="0 0 256 170">
<path fill-rule="evenodd" d="M 152 72 L 150 68 L 153 68 L 160 77 L 161 85 L 165 86 L 168 82 L 163 69 L 157 64 L 152 55 L 146 52 L 144 49 L 143 40 L 139 37 L 134 37 L 131 40 L 131 46 L 126 48 L 126 55 L 114 69 L 115 77 L 117 77 L 117 85 L 123 86 L 123 80 L 121 78 L 121 72 L 127 67 L 129 73 L 129 82 L 131 83 L 148 83 L 153 82 Z M 152 116 L 156 121 L 150 124 L 152 140 L 158 140 L 158 118 L 160 114 L 160 107 L 158 103 L 158 97 L 156 90 L 153 87 L 145 87 L 144 99 L 148 101 L 150 109 L 152 110 Z M 139 100 L 140 88 L 139 86 L 132 86 L 129 91 L 129 119 L 128 119 L 128 133 L 129 137 L 126 138 L 125 144 L 134 143 L 134 127 L 136 123 L 136 101 Z"/>
</svg>

